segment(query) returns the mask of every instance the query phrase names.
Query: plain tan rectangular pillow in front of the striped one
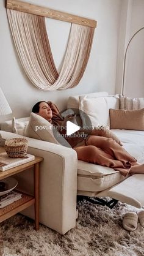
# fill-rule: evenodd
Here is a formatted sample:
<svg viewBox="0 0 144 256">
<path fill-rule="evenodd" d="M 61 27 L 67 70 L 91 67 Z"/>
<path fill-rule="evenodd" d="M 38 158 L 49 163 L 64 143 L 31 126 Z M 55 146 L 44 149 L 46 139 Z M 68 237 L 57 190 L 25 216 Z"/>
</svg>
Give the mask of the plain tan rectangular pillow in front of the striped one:
<svg viewBox="0 0 144 256">
<path fill-rule="evenodd" d="M 110 108 L 110 129 L 144 130 L 144 108 L 113 110 Z"/>
</svg>

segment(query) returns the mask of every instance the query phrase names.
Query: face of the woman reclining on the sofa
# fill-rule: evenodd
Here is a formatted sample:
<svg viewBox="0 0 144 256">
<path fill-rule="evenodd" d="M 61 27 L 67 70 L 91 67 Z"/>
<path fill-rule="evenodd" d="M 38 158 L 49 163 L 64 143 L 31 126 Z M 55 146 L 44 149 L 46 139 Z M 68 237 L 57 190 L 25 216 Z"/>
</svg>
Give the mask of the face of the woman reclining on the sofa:
<svg viewBox="0 0 144 256">
<path fill-rule="evenodd" d="M 46 102 L 41 102 L 39 105 L 39 112 L 37 113 L 39 116 L 42 116 L 42 118 L 45 118 L 46 120 L 51 120 L 52 118 L 52 111 L 49 105 Z"/>
</svg>

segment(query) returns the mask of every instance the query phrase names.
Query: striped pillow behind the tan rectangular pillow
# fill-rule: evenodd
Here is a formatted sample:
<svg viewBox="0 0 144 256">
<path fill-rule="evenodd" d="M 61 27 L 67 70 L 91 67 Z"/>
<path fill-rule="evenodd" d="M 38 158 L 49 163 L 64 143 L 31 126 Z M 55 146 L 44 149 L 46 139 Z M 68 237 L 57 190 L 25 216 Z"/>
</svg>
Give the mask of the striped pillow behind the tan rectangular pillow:
<svg viewBox="0 0 144 256">
<path fill-rule="evenodd" d="M 120 110 L 139 110 L 144 108 L 144 98 L 120 96 Z"/>
</svg>

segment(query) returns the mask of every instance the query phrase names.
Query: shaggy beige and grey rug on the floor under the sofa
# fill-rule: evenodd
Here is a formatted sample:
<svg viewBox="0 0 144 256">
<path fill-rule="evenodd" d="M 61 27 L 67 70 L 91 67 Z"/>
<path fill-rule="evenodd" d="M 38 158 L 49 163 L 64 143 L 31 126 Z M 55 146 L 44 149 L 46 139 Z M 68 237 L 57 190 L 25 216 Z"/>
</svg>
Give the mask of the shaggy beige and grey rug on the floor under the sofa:
<svg viewBox="0 0 144 256">
<path fill-rule="evenodd" d="M 144 255 L 144 228 L 128 232 L 122 227 L 123 214 L 136 208 L 118 202 L 118 207 L 77 203 L 76 227 L 60 235 L 17 214 L 1 223 L 2 256 L 135 256 Z"/>
</svg>

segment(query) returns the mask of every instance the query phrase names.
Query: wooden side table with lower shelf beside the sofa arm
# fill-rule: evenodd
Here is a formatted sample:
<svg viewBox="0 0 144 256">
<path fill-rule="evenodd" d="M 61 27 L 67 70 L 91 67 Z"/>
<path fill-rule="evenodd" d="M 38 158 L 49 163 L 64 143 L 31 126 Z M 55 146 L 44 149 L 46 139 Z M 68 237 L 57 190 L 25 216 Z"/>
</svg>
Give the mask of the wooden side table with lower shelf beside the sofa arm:
<svg viewBox="0 0 144 256">
<path fill-rule="evenodd" d="M 4 148 L 0 147 L 0 152 L 4 152 Z M 6 171 L 0 171 L 0 180 L 20 173 L 21 171 L 27 170 L 31 167 L 34 167 L 34 197 L 31 195 L 22 194 L 20 200 L 14 201 L 10 205 L 5 206 L 0 209 L 0 222 L 9 217 L 23 211 L 27 207 L 31 205 L 35 205 L 35 230 L 39 228 L 39 170 L 40 170 L 40 162 L 43 160 L 42 157 L 35 156 L 35 160 L 31 162 L 27 162 L 26 164 L 18 165 L 14 168 L 10 168 Z M 19 191 L 18 191 L 19 192 Z"/>
</svg>

